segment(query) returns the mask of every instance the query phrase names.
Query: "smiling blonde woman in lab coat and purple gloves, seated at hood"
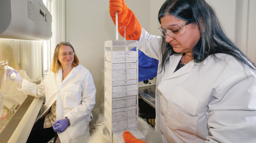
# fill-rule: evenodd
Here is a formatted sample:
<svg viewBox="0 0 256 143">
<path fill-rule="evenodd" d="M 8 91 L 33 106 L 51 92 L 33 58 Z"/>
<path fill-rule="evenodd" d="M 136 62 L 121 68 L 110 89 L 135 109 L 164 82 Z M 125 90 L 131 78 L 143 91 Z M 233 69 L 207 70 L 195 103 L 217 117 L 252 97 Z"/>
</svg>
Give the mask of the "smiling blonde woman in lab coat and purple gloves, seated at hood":
<svg viewBox="0 0 256 143">
<path fill-rule="evenodd" d="M 8 77 L 12 72 L 8 70 Z M 42 83 L 36 85 L 14 72 L 20 91 L 38 98 L 46 97 L 44 113 L 32 128 L 27 142 L 48 142 L 56 138 L 55 132 L 60 142 L 88 141 L 96 88 L 91 73 L 79 64 L 70 43 L 61 42 L 56 46 L 51 71 Z"/>
</svg>

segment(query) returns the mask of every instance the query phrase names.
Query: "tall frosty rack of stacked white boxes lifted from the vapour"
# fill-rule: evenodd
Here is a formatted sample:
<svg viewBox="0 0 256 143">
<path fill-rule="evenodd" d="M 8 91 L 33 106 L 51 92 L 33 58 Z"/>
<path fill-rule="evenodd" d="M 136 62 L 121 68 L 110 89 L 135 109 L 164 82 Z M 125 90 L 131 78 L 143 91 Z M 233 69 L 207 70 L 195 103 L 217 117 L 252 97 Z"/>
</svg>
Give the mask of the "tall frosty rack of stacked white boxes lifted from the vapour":
<svg viewBox="0 0 256 143">
<path fill-rule="evenodd" d="M 111 142 L 124 142 L 122 133 L 145 137 L 138 130 L 137 41 L 105 41 L 104 122 Z"/>
</svg>

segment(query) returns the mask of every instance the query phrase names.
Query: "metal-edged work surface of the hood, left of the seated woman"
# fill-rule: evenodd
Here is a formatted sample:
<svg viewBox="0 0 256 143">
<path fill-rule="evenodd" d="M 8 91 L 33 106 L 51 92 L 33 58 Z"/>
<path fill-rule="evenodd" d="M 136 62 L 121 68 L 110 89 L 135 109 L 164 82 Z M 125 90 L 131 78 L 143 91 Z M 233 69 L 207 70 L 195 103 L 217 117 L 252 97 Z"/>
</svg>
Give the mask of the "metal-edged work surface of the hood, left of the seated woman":
<svg viewBox="0 0 256 143">
<path fill-rule="evenodd" d="M 21 95 L 18 95 L 21 96 Z M 26 142 L 34 125 L 44 98 L 23 95 L 25 100 L 16 108 L 4 106 L 7 116 L 0 120 L 0 142 Z"/>
</svg>

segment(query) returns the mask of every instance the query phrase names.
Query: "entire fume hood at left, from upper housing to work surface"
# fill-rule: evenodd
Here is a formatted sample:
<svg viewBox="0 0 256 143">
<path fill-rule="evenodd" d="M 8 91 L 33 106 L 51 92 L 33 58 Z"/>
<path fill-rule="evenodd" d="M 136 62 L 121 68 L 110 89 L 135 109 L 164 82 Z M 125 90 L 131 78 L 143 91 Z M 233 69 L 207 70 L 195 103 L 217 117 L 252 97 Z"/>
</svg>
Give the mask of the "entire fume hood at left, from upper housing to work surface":
<svg viewBox="0 0 256 143">
<path fill-rule="evenodd" d="M 0 23 L 0 142 L 26 142 L 44 98 L 18 91 L 14 81 L 5 82 L 3 66 L 40 81 L 42 40 L 52 37 L 52 16 L 41 0 L 1 0 Z"/>
</svg>

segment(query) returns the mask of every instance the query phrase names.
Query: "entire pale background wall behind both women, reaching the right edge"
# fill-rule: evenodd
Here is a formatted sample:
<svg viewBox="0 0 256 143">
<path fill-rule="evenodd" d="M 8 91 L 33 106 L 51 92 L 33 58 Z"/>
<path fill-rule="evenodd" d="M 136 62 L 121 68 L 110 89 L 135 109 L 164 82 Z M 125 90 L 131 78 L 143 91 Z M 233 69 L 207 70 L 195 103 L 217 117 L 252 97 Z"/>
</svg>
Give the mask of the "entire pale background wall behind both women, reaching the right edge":
<svg viewBox="0 0 256 143">
<path fill-rule="evenodd" d="M 256 63 L 255 8 L 250 0 L 206 0 L 215 10 L 224 32 L 253 63 Z M 102 107 L 104 99 L 104 41 L 115 40 L 115 25 L 109 14 L 109 1 L 52 1 L 56 19 L 56 35 L 52 45 L 70 42 L 81 65 L 92 73 L 96 85 L 95 109 Z M 135 13 L 146 31 L 159 35 L 158 11 L 164 0 L 129 0 L 127 6 Z M 54 14 L 53 14 L 54 15 Z M 54 22 L 54 20 L 53 20 Z M 123 37 L 119 35 L 119 40 Z M 55 43 L 54 43 L 55 42 Z M 52 52 L 53 53 L 53 52 Z"/>
</svg>

